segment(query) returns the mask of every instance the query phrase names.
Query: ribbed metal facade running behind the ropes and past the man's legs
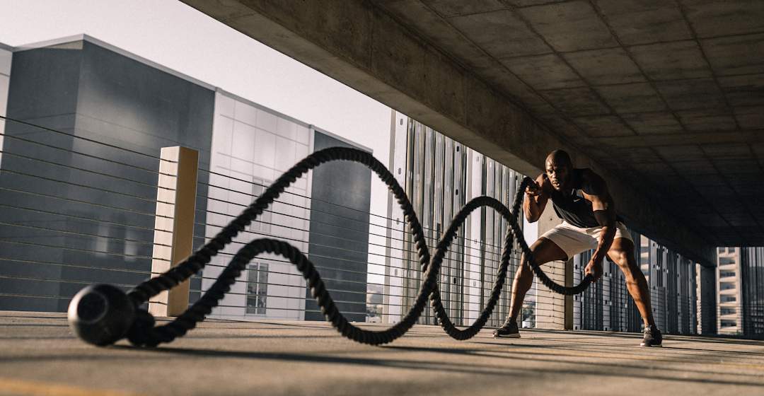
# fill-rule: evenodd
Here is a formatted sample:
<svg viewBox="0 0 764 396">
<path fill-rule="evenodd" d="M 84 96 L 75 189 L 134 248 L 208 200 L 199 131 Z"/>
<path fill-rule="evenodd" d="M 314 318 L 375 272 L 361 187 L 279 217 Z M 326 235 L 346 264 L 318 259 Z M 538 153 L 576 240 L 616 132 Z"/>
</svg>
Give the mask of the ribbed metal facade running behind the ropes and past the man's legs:
<svg viewBox="0 0 764 396">
<path fill-rule="evenodd" d="M 448 226 L 453 214 L 471 198 L 488 195 L 508 207 L 511 205 L 523 175 L 400 113 L 393 113 L 391 133 L 390 169 L 416 208 L 428 246 L 435 246 L 443 227 Z M 382 319 L 393 323 L 400 320 L 400 315 L 406 314 L 406 308 L 413 303 L 421 274 L 410 235 L 402 221 L 402 211 L 392 200 L 389 213 L 389 264 Z M 484 307 L 496 276 L 506 227 L 507 223 L 490 209 L 473 212 L 449 251 L 440 288 L 449 317 L 456 324 L 471 324 Z M 696 333 L 698 295 L 694 262 L 648 237 L 630 232 L 635 241 L 635 260 L 649 285 L 656 324 L 664 333 Z M 535 241 L 536 235 L 526 239 Z M 502 298 L 487 326 L 499 326 L 509 311 L 511 282 L 520 264 L 520 253 L 516 246 L 513 248 Z M 578 285 L 584 277 L 584 267 L 592 253 L 593 250 L 581 253 L 568 263 L 572 266 L 573 285 Z M 581 295 L 572 296 L 570 301 L 535 282 L 523 303 L 522 326 L 642 331 L 643 319 L 626 287 L 623 273 L 609 259 L 603 266 L 601 281 Z M 558 283 L 565 282 L 564 268 L 562 263 L 544 266 L 550 278 Z M 561 319 L 568 314 L 571 320 Z M 432 317 L 421 321 L 435 323 Z"/>
</svg>

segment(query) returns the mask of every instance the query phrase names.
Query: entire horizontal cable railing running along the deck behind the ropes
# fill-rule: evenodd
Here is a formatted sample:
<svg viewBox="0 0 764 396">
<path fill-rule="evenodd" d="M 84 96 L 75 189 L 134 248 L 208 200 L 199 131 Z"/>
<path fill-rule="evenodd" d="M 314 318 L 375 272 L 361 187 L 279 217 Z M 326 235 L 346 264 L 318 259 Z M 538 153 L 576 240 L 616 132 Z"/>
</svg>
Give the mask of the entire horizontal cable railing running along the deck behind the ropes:
<svg viewBox="0 0 764 396">
<path fill-rule="evenodd" d="M 176 193 L 160 187 L 159 182 L 160 177 L 175 175 L 160 172 L 160 163 L 166 160 L 158 155 L 159 148 L 141 153 L 14 120 L 6 122 L 3 137 L 0 309 L 66 311 L 70 298 L 86 285 L 109 283 L 127 290 L 157 274 L 157 262 L 167 263 L 169 268 L 170 259 L 157 251 L 173 246 L 157 241 L 155 236 L 167 233 L 166 227 L 157 226 L 158 221 L 173 221 L 171 215 L 160 214 L 157 206 L 173 202 L 157 197 L 161 189 Z M 86 145 L 57 146 L 57 140 L 62 139 L 81 140 Z M 220 167 L 198 169 L 193 248 L 214 237 L 269 185 L 267 180 L 226 175 Z M 193 275 L 189 304 L 215 282 L 241 247 L 257 238 L 275 238 L 299 247 L 314 262 L 348 320 L 393 323 L 406 314 L 422 282 L 407 225 L 367 209 L 313 198 L 307 185 L 287 188 L 205 269 Z M 474 212 L 468 223 L 475 218 L 486 224 L 487 217 L 491 218 L 488 224 L 495 224 L 492 227 L 506 227 L 506 222 L 490 210 Z M 438 224 L 423 231 L 433 253 L 445 227 L 441 229 Z M 455 324 L 471 324 L 490 297 L 503 233 L 491 231 L 490 235 L 500 237 L 483 239 L 460 235 L 453 241 L 442 264 L 439 288 Z M 488 325 L 500 324 L 509 312 L 512 277 L 519 264 L 520 253 L 513 250 L 502 298 Z M 565 271 L 558 267 L 544 269 L 557 279 L 565 277 Z M 606 276 L 601 290 L 597 290 L 618 295 L 618 305 L 612 309 L 615 317 L 628 311 L 623 304 L 633 304 L 627 300 L 625 286 L 615 286 L 618 282 L 620 278 Z M 574 301 L 585 308 L 601 298 L 579 295 Z M 677 301 L 685 307 L 681 312 L 691 305 L 684 295 Z M 533 282 L 519 321 L 527 327 L 555 327 L 558 313 L 565 307 L 565 298 Z M 253 259 L 211 316 L 274 320 L 323 317 L 302 275 L 286 259 L 273 255 Z M 435 324 L 429 308 L 420 323 Z"/>
</svg>

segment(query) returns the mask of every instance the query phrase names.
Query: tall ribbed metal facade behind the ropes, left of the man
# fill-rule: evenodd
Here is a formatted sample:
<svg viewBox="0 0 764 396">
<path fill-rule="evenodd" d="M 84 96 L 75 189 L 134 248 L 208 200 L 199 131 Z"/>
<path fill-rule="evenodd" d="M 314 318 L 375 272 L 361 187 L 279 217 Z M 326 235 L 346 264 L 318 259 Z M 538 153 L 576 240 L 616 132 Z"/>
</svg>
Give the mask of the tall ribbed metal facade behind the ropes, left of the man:
<svg viewBox="0 0 764 396">
<path fill-rule="evenodd" d="M 422 224 L 430 253 L 452 217 L 472 198 L 488 195 L 511 208 L 523 175 L 439 132 L 393 111 L 390 130 L 390 171 L 403 186 Z M 403 211 L 388 201 L 387 254 L 382 321 L 393 323 L 413 305 L 422 271 Z M 472 212 L 458 231 L 442 264 L 440 295 L 448 316 L 458 326 L 478 318 L 496 280 L 507 221 L 491 208 Z M 520 253 L 513 244 L 510 273 Z M 511 280 L 508 281 L 510 283 Z M 509 312 L 510 287 L 505 286 L 487 326 L 500 326 Z M 535 320 L 535 295 L 524 304 L 523 320 Z M 420 323 L 435 324 L 427 307 Z"/>
</svg>

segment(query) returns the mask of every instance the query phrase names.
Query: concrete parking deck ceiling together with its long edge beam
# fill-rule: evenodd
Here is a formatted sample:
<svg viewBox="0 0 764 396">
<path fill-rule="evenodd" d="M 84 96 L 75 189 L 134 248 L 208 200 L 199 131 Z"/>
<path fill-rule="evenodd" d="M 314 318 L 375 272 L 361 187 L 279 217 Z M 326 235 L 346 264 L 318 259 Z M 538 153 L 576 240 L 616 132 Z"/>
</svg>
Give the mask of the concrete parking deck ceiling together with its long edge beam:
<svg viewBox="0 0 764 396">
<path fill-rule="evenodd" d="M 571 151 L 651 237 L 764 245 L 762 0 L 183 1 L 520 172 Z"/>
</svg>

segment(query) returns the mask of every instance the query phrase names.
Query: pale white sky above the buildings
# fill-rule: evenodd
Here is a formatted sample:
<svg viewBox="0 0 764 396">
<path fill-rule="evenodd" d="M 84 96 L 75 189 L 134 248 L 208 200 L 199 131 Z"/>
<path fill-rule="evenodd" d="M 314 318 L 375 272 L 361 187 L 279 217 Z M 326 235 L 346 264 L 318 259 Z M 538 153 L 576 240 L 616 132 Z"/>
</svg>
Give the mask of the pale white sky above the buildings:
<svg viewBox="0 0 764 396">
<path fill-rule="evenodd" d="M 0 43 L 18 47 L 76 34 L 95 37 L 329 130 L 374 150 L 374 156 L 387 165 L 390 108 L 181 2 L 0 0 Z M 387 188 L 376 175 L 371 179 L 371 211 L 384 216 Z M 371 232 L 383 233 L 377 227 Z M 384 245 L 384 239 L 372 237 L 370 242 Z M 377 253 L 384 254 L 384 249 Z M 369 259 L 384 263 L 380 256 Z M 370 266 L 371 272 L 381 270 Z M 369 281 L 381 278 L 370 276 Z"/>
</svg>

